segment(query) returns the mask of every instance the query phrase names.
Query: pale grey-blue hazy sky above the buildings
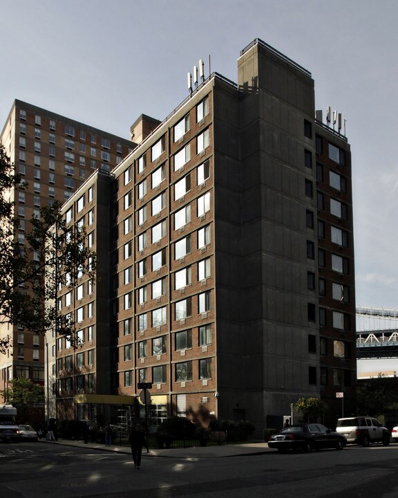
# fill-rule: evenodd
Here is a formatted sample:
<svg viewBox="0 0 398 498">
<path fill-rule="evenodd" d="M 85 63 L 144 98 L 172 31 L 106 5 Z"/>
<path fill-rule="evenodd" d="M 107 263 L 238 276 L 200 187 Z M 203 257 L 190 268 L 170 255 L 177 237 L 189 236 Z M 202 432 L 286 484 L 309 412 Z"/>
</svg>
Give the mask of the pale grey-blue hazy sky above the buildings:
<svg viewBox="0 0 398 498">
<path fill-rule="evenodd" d="M 357 306 L 398 309 L 397 19 L 396 0 L 0 0 L 0 123 L 17 98 L 129 138 L 187 97 L 200 58 L 236 82 L 260 38 L 345 116 Z"/>
</svg>

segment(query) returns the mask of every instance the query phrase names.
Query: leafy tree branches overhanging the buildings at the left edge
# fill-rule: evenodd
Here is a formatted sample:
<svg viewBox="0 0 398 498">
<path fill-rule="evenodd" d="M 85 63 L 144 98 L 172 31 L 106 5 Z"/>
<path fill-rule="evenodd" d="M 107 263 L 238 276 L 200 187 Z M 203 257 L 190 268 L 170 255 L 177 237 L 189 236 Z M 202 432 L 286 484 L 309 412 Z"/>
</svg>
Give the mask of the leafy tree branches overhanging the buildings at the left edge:
<svg viewBox="0 0 398 498">
<path fill-rule="evenodd" d="M 25 241 L 19 243 L 19 219 L 10 200 L 10 192 L 18 190 L 28 190 L 28 184 L 21 184 L 21 177 L 15 174 L 0 146 L 1 322 L 41 334 L 55 328 L 75 347 L 73 318 L 61 315 L 55 304 L 57 286 L 68 279 L 74 291 L 79 275 L 93 278 L 95 254 L 86 247 L 85 228 L 66 225 L 60 203 L 44 206 L 40 216 L 27 221 Z M 10 336 L 0 339 L 0 352 L 7 351 L 10 341 Z"/>
</svg>

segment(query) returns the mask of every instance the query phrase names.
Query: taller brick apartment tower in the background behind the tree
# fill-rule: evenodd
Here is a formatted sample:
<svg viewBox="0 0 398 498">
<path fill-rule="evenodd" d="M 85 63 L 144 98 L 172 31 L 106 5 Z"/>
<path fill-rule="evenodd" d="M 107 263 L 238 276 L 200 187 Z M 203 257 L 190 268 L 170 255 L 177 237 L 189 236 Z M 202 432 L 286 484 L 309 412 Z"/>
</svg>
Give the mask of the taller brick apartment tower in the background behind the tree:
<svg viewBox="0 0 398 498">
<path fill-rule="evenodd" d="M 26 190 L 12 194 L 21 244 L 41 206 L 69 199 L 96 170 L 110 172 L 134 147 L 130 140 L 21 100 L 12 105 L 1 144 L 28 182 Z M 44 382 L 44 337 L 19 324 L 2 324 L 0 333 L 12 338 L 8 353 L 0 355 L 0 389 L 15 377 Z"/>
</svg>

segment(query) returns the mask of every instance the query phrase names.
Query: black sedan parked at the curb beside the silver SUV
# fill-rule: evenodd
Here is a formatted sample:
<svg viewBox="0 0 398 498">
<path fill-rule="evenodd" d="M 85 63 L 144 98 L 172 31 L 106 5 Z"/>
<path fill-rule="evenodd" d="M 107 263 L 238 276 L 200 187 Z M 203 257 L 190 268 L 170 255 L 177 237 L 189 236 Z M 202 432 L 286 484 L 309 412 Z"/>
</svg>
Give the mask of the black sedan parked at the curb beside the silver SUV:
<svg viewBox="0 0 398 498">
<path fill-rule="evenodd" d="M 275 448 L 280 453 L 287 450 L 322 450 L 335 448 L 343 450 L 347 440 L 341 434 L 333 432 L 320 423 L 294 424 L 274 434 L 268 441 L 269 448 Z"/>
</svg>

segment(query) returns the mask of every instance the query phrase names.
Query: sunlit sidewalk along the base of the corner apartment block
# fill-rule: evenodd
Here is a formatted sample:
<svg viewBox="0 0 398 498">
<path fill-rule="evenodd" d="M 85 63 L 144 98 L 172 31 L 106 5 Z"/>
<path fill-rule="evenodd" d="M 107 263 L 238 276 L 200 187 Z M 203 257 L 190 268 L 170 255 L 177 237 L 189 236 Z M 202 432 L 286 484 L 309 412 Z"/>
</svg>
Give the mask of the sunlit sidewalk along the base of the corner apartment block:
<svg viewBox="0 0 398 498">
<path fill-rule="evenodd" d="M 104 444 L 88 443 L 84 441 L 69 441 L 68 439 L 58 439 L 58 441 L 45 441 L 39 439 L 41 443 L 75 446 L 79 448 L 90 448 L 91 450 L 101 450 L 115 453 L 131 454 L 128 446 L 105 446 Z M 205 458 L 221 458 L 221 457 L 240 457 L 254 454 L 264 454 L 269 451 L 267 443 L 249 443 L 241 445 L 220 445 L 220 446 L 194 446 L 193 448 L 149 448 L 149 453 L 146 449 L 142 449 L 143 457 L 171 457 L 176 459 L 205 459 Z"/>
</svg>

